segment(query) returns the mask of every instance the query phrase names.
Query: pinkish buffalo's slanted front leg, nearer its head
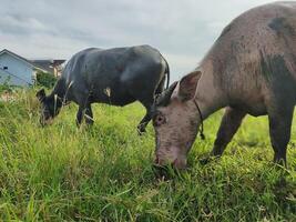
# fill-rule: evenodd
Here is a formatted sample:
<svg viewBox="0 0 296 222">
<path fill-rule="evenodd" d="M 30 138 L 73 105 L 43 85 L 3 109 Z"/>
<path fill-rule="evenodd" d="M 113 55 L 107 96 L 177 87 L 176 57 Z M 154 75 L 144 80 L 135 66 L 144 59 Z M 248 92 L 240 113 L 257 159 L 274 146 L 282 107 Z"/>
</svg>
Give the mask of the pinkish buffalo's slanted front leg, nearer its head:
<svg viewBox="0 0 296 222">
<path fill-rule="evenodd" d="M 245 115 L 246 113 L 241 110 L 226 108 L 212 151 L 213 155 L 222 155 L 223 151 L 239 128 Z"/>
</svg>

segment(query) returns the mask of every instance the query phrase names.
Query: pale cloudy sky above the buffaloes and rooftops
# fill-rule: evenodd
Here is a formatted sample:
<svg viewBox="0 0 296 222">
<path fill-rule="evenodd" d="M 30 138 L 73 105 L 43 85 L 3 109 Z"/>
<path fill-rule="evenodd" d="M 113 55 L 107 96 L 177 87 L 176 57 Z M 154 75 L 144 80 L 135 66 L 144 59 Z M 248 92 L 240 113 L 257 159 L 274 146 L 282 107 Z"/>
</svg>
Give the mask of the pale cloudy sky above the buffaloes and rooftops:
<svg viewBox="0 0 296 222">
<path fill-rule="evenodd" d="M 0 50 L 70 59 L 89 48 L 150 44 L 180 79 L 227 23 L 268 0 L 0 0 Z"/>
</svg>

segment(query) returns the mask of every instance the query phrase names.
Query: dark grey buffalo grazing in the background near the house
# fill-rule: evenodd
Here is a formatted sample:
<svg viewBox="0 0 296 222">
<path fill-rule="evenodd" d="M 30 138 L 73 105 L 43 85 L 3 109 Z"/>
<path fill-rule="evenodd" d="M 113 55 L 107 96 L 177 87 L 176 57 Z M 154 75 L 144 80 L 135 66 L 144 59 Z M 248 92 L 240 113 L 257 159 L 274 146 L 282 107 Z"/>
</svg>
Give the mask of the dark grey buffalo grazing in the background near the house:
<svg viewBox="0 0 296 222">
<path fill-rule="evenodd" d="M 142 133 L 151 120 L 154 97 L 163 91 L 165 74 L 169 87 L 169 64 L 150 46 L 85 49 L 69 60 L 50 95 L 43 89 L 37 93 L 42 107 L 40 122 L 48 123 L 70 101 L 79 105 L 76 123 L 80 125 L 83 117 L 86 123 L 93 123 L 93 102 L 123 107 L 139 100 L 146 109 L 137 125 Z"/>
</svg>

